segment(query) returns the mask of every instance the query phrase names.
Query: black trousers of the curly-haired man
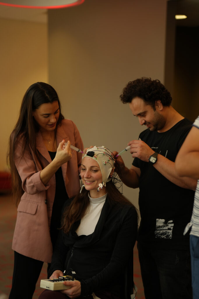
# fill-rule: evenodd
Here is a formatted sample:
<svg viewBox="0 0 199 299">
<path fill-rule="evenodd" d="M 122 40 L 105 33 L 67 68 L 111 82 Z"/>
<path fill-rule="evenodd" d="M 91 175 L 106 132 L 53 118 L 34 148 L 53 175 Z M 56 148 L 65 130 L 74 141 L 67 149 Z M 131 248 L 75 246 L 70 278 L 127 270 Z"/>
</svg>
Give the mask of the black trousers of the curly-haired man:
<svg viewBox="0 0 199 299">
<path fill-rule="evenodd" d="M 146 299 L 191 299 L 191 260 L 186 250 L 138 243 Z"/>
</svg>

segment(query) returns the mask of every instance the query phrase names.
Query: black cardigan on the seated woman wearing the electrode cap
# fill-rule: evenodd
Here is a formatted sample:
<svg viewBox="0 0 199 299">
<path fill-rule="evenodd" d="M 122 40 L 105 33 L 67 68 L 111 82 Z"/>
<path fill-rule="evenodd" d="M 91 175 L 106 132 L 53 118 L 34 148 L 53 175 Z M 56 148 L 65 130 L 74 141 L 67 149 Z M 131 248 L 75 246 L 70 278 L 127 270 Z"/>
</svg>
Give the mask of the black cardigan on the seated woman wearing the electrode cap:
<svg viewBox="0 0 199 299">
<path fill-rule="evenodd" d="M 69 235 L 62 231 L 53 251 L 51 273 L 72 269 L 81 282 L 81 295 L 106 290 L 122 296 L 124 268 L 133 253 L 138 217 L 130 205 L 110 205 L 108 196 L 95 231 L 78 237 L 72 226 Z"/>
</svg>

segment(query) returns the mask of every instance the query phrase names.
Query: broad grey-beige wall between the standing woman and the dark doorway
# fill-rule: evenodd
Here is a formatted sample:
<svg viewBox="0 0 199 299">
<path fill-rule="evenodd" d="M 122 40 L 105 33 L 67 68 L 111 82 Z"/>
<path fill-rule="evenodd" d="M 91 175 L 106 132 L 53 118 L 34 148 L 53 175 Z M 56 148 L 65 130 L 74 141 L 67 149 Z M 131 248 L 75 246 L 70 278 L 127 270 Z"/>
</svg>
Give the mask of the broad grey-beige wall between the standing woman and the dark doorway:
<svg viewBox="0 0 199 299">
<path fill-rule="evenodd" d="M 163 82 L 166 0 L 86 0 L 49 11 L 49 83 L 84 145 L 121 151 L 141 127 L 119 100 L 130 80 Z M 123 158 L 131 166 L 129 152 Z M 138 206 L 138 190 L 123 187 Z"/>
</svg>

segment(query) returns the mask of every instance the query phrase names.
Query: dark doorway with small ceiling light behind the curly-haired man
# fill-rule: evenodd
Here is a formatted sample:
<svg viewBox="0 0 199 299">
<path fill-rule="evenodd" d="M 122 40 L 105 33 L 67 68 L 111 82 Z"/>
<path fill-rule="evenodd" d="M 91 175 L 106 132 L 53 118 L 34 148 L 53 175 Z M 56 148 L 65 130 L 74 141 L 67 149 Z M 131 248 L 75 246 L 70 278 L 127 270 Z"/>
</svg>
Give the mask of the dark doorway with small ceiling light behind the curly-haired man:
<svg viewBox="0 0 199 299">
<path fill-rule="evenodd" d="M 175 20 L 176 14 L 187 19 Z M 199 114 L 199 1 L 167 2 L 165 86 L 172 106 L 194 121 Z"/>
</svg>

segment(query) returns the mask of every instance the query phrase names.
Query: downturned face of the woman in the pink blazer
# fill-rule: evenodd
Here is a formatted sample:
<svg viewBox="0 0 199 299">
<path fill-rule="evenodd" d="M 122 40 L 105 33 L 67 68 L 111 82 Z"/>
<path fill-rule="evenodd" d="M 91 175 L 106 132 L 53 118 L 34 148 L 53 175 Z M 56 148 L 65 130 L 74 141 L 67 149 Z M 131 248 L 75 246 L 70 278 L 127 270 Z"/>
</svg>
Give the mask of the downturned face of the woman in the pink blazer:
<svg viewBox="0 0 199 299">
<path fill-rule="evenodd" d="M 59 118 L 58 101 L 41 104 L 33 111 L 33 117 L 39 125 L 40 131 L 53 131 Z"/>
</svg>

